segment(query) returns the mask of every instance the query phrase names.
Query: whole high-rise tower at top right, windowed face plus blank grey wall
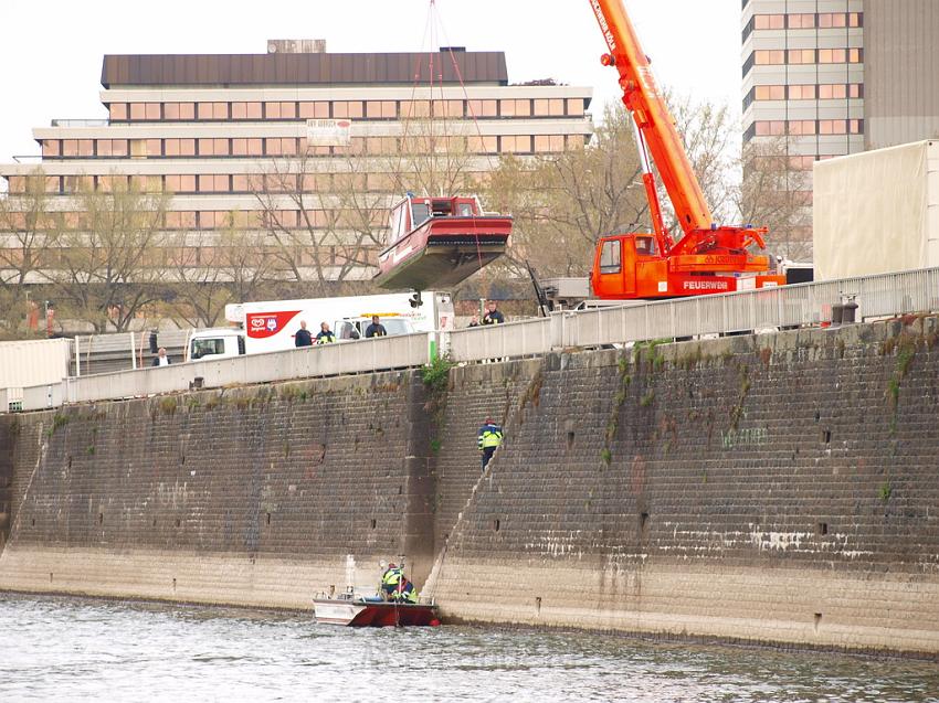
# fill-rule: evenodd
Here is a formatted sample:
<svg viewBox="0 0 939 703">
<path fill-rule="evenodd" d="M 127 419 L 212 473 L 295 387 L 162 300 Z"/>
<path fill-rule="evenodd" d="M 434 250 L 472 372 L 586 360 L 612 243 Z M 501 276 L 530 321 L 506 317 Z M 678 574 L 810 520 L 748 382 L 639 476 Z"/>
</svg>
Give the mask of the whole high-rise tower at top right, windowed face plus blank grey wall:
<svg viewBox="0 0 939 703">
<path fill-rule="evenodd" d="M 782 142 L 811 239 L 815 161 L 939 136 L 932 0 L 742 0 L 743 143 Z"/>
</svg>

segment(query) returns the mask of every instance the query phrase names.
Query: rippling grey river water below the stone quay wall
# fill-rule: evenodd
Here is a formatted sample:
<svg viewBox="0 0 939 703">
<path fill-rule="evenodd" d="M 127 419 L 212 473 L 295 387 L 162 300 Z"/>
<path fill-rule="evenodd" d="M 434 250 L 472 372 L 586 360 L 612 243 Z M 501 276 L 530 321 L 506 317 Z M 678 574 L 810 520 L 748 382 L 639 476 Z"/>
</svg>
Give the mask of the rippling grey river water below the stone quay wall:
<svg viewBox="0 0 939 703">
<path fill-rule="evenodd" d="M 0 701 L 939 701 L 939 665 L 0 594 Z"/>
</svg>

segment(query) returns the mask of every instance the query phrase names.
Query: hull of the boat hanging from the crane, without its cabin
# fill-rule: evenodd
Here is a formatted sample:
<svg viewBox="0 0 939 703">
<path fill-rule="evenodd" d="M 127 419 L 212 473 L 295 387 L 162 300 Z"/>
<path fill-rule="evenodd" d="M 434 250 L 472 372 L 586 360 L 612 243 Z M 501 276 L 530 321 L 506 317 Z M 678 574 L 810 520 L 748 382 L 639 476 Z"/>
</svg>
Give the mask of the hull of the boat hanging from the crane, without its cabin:
<svg viewBox="0 0 939 703">
<path fill-rule="evenodd" d="M 511 217 L 434 217 L 379 255 L 379 287 L 429 290 L 454 286 L 505 254 Z"/>
</svg>

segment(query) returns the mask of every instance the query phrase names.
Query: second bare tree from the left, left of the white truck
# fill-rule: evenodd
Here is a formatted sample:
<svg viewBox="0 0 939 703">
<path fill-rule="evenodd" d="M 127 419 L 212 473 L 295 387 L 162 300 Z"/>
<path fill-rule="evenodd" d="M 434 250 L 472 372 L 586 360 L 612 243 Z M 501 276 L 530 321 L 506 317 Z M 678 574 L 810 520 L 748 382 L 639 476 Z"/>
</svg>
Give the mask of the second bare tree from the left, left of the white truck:
<svg viewBox="0 0 939 703">
<path fill-rule="evenodd" d="M 62 307 L 97 332 L 127 330 L 162 294 L 162 223 L 169 196 L 134 185 L 84 188 L 66 213 L 60 262 L 51 271 Z"/>
</svg>

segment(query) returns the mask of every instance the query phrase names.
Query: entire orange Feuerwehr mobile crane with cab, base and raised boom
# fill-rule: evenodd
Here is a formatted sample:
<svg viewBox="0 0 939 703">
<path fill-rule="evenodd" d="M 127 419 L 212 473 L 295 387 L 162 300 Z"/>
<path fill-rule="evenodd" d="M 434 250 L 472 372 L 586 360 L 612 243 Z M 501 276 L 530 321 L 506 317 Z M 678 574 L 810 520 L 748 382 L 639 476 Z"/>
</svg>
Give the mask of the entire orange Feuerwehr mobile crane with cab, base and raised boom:
<svg viewBox="0 0 939 703">
<path fill-rule="evenodd" d="M 601 62 L 620 74 L 623 104 L 633 118 L 653 233 L 613 234 L 597 245 L 590 284 L 604 299 L 675 298 L 779 286 L 764 248 L 766 227 L 714 222 L 700 183 L 682 146 L 675 120 L 656 86 L 648 57 L 622 0 L 590 0 L 610 53 Z M 682 228 L 676 242 L 658 202 L 655 163 Z"/>
</svg>

